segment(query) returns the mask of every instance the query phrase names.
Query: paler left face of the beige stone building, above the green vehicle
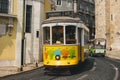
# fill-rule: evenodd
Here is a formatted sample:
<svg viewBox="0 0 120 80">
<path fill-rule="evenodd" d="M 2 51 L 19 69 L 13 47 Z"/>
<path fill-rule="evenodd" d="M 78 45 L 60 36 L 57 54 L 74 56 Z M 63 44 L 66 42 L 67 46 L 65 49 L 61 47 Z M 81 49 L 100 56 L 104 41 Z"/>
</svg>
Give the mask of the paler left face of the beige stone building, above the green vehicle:
<svg viewBox="0 0 120 80">
<path fill-rule="evenodd" d="M 106 38 L 106 6 L 105 0 L 95 1 L 95 38 Z M 102 34 L 101 34 L 102 33 Z"/>
</svg>

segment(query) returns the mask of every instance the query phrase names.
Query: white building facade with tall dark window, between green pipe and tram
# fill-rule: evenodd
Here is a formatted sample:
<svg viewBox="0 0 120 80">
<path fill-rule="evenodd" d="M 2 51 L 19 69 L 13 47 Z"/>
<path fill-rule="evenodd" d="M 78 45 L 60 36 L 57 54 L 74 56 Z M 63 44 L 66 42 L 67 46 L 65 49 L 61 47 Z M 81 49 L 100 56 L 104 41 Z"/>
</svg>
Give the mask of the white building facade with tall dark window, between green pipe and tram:
<svg viewBox="0 0 120 80">
<path fill-rule="evenodd" d="M 37 8 L 36 8 L 37 7 Z M 24 18 L 24 63 L 42 60 L 40 53 L 40 26 L 44 19 L 43 0 L 25 0 Z"/>
</svg>

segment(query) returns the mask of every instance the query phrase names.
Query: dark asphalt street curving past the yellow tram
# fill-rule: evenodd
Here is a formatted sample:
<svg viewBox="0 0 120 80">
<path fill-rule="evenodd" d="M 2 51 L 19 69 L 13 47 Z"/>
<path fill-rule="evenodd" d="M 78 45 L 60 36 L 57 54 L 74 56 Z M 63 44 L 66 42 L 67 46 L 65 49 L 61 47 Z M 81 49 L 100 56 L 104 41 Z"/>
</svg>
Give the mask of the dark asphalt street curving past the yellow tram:
<svg viewBox="0 0 120 80">
<path fill-rule="evenodd" d="M 120 80 L 120 61 L 103 57 L 89 57 L 72 75 L 45 73 L 44 68 L 3 77 L 0 80 Z"/>
</svg>

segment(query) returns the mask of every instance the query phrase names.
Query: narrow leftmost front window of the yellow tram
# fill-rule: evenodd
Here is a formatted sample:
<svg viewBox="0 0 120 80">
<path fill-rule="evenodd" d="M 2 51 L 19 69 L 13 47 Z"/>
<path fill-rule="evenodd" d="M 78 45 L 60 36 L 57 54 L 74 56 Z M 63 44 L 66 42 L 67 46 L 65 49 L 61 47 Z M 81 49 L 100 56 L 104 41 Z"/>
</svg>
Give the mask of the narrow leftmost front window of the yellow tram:
<svg viewBox="0 0 120 80">
<path fill-rule="evenodd" d="M 43 28 L 43 43 L 50 44 L 50 27 Z"/>
</svg>

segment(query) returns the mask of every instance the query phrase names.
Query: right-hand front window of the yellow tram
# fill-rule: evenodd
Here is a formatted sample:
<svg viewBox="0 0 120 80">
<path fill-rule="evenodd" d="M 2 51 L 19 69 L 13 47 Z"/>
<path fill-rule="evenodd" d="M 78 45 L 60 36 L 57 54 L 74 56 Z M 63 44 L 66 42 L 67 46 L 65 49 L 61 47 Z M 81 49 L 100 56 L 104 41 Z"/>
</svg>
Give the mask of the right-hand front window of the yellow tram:
<svg viewBox="0 0 120 80">
<path fill-rule="evenodd" d="M 75 32 L 76 32 L 75 26 L 66 26 L 66 44 L 76 43 Z"/>
</svg>

